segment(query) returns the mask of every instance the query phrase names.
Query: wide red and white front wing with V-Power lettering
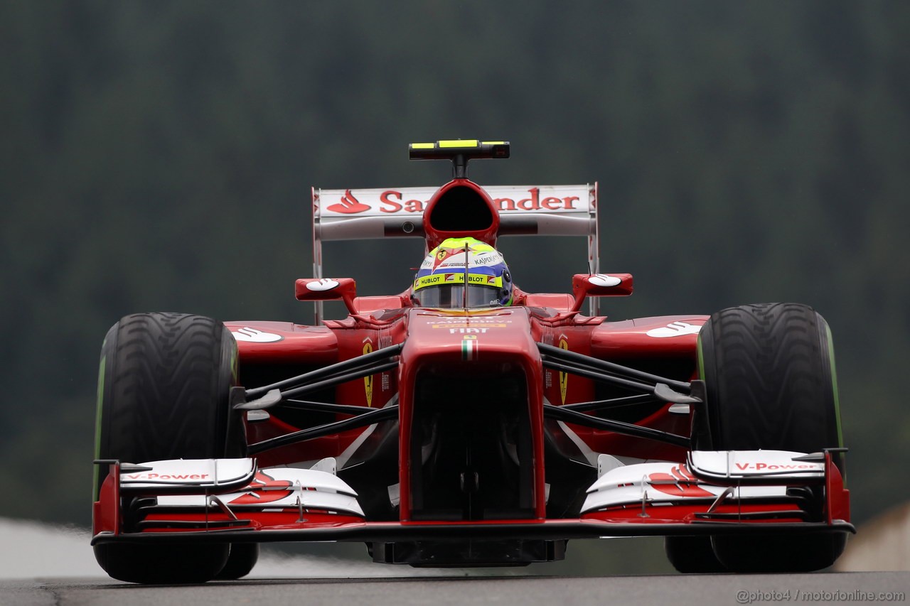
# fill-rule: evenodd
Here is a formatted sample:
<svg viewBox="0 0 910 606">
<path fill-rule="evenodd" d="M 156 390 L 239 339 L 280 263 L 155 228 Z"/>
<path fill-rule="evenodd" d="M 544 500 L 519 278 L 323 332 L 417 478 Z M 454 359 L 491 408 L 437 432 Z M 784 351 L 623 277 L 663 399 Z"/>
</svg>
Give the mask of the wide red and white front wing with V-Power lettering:
<svg viewBox="0 0 910 606">
<path fill-rule="evenodd" d="M 95 503 L 107 542 L 569 540 L 854 532 L 833 451 L 691 452 L 686 463 L 602 455 L 577 518 L 369 521 L 334 460 L 258 470 L 255 460 L 116 460 Z M 821 510 L 807 495 L 824 494 Z M 814 504 L 813 504 L 814 503 Z"/>
</svg>

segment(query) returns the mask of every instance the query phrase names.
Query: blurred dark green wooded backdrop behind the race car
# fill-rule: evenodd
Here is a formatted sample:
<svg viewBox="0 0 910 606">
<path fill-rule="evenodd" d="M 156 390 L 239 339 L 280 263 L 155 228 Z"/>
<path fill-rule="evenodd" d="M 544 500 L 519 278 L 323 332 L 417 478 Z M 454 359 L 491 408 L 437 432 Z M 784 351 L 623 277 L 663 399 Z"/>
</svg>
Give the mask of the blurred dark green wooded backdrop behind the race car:
<svg viewBox="0 0 910 606">
<path fill-rule="evenodd" d="M 837 344 L 854 514 L 910 498 L 910 4 L 0 3 L 0 515 L 89 520 L 97 351 L 135 311 L 311 321 L 309 187 L 600 182 L 614 319 L 795 300 Z M 584 246 L 507 239 L 521 287 Z M 577 246 L 576 248 L 574 248 Z M 568 252 L 567 252 L 568 250 Z M 419 241 L 327 246 L 398 292 Z M 904 470 L 904 471 L 901 471 Z"/>
</svg>

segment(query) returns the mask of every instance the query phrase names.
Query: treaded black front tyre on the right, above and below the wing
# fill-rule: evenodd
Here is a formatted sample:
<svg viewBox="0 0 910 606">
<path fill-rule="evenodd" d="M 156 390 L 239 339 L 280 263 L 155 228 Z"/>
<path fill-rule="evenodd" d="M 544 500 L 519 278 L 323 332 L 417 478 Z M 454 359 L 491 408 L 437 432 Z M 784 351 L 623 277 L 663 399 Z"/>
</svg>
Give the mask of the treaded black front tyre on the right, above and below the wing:
<svg viewBox="0 0 910 606">
<path fill-rule="evenodd" d="M 704 324 L 698 345 L 707 401 L 695 449 L 841 446 L 831 331 L 813 308 L 723 309 Z M 843 470 L 840 456 L 835 460 Z M 717 559 L 734 572 L 821 570 L 840 556 L 844 542 L 841 534 L 712 538 Z"/>
</svg>

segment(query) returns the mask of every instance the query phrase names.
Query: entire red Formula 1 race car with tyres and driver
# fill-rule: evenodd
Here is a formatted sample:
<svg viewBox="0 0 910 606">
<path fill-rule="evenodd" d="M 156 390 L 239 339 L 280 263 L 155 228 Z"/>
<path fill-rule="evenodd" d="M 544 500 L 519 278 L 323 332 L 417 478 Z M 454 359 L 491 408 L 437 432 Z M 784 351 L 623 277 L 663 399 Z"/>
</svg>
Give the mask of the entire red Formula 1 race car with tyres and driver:
<svg viewBox="0 0 910 606">
<path fill-rule="evenodd" d="M 561 560 L 659 535 L 682 572 L 814 571 L 850 523 L 831 331 L 813 308 L 606 321 L 597 186 L 480 187 L 504 141 L 410 146 L 439 188 L 313 191 L 313 326 L 176 313 L 102 346 L 96 559 L 140 583 L 238 579 L 267 541 L 359 541 L 373 561 Z M 505 235 L 581 236 L 571 294 L 531 293 Z M 423 237 L 410 288 L 358 297 L 322 242 Z M 322 317 L 322 301 L 349 315 Z M 585 302 L 588 313 L 582 313 Z"/>
</svg>

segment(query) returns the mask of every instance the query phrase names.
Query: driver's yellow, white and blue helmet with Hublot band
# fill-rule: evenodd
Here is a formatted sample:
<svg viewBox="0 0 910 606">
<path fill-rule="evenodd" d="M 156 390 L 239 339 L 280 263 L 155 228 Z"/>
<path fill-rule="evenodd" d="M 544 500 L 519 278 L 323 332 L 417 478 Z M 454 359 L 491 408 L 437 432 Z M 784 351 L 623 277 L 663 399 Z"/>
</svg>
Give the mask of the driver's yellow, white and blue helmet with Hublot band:
<svg viewBox="0 0 910 606">
<path fill-rule="evenodd" d="M 473 237 L 450 237 L 423 259 L 411 298 L 421 308 L 507 306 L 512 303 L 511 274 L 496 248 Z"/>
</svg>

